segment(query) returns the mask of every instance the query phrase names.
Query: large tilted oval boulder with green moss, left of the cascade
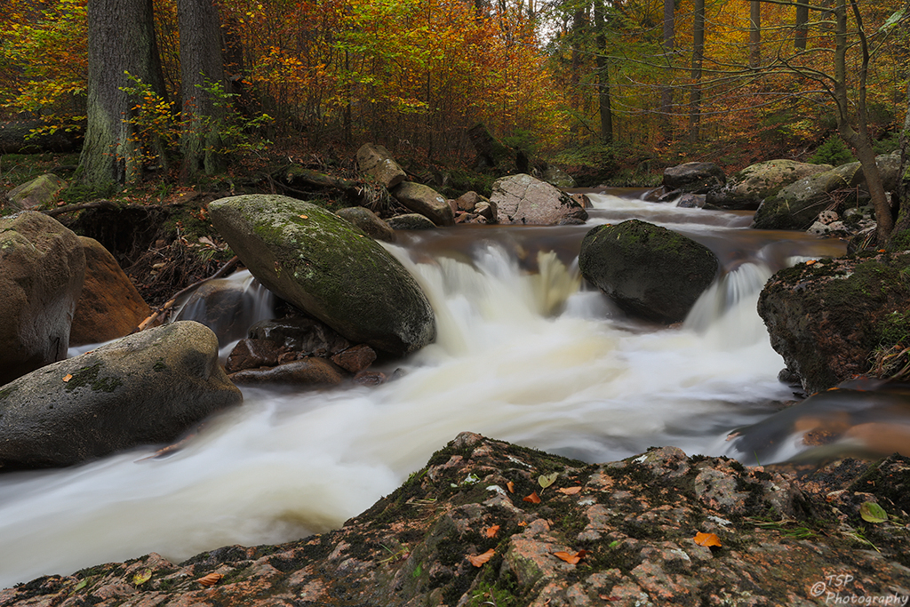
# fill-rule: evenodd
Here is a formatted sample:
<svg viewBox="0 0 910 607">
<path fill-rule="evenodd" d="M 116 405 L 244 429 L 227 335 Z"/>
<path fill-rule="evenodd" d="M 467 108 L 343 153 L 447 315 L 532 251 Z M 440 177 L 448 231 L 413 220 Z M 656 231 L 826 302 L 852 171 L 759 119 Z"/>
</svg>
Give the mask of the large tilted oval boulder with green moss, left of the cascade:
<svg viewBox="0 0 910 607">
<path fill-rule="evenodd" d="M 253 276 L 352 342 L 403 355 L 435 339 L 417 281 L 348 221 L 275 195 L 221 198 L 208 210 Z"/>
</svg>

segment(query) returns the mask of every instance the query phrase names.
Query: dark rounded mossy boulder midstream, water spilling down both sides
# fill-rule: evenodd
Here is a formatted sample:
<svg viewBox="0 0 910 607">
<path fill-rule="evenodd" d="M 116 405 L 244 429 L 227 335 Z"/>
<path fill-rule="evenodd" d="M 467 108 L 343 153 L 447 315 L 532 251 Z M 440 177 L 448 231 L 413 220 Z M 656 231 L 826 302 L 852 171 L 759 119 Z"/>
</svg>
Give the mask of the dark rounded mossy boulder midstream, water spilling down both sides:
<svg viewBox="0 0 910 607">
<path fill-rule="evenodd" d="M 711 249 L 638 219 L 591 229 L 578 262 L 620 309 L 663 324 L 685 319 L 719 267 Z"/>
</svg>

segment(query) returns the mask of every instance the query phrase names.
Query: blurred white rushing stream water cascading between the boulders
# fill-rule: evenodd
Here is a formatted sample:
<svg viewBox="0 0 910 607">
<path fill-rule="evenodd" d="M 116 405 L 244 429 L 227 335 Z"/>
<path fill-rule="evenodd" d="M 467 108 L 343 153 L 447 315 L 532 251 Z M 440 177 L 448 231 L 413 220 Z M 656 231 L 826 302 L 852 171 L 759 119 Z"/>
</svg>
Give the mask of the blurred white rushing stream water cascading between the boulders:
<svg viewBox="0 0 910 607">
<path fill-rule="evenodd" d="M 705 294 L 682 327 L 656 329 L 581 288 L 551 253 L 529 274 L 495 243 L 470 263 L 394 250 L 439 326 L 435 344 L 399 361 L 403 377 L 374 389 L 245 389 L 242 406 L 167 458 L 147 448 L 0 476 L 0 587 L 337 527 L 462 430 L 590 461 L 666 444 L 718 454 L 727 431 L 790 395 L 754 311 L 770 273 L 760 259 Z"/>
</svg>

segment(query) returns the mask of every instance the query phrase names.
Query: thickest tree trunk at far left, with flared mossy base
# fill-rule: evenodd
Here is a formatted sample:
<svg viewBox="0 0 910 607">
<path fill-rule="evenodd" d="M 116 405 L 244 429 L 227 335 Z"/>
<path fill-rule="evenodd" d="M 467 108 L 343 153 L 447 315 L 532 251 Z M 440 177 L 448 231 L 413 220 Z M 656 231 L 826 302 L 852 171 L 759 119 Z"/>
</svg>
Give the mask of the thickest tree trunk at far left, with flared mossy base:
<svg viewBox="0 0 910 607">
<path fill-rule="evenodd" d="M 131 181 L 142 169 L 135 127 L 124 120 L 136 105 L 121 90 L 125 72 L 164 95 L 152 0 L 89 0 L 86 142 L 77 172 L 89 187 Z"/>
</svg>

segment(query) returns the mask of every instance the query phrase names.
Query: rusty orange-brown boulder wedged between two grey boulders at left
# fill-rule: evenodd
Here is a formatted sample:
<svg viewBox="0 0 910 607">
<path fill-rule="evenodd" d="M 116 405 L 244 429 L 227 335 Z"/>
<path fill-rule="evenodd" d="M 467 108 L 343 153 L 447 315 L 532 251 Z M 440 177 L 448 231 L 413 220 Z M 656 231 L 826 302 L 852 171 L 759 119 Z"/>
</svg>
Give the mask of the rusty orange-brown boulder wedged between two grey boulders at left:
<svg viewBox="0 0 910 607">
<path fill-rule="evenodd" d="M 129 335 L 148 317 L 148 304 L 110 251 L 94 238 L 80 236 L 79 241 L 86 253 L 86 278 L 76 304 L 70 345 Z"/>
</svg>

